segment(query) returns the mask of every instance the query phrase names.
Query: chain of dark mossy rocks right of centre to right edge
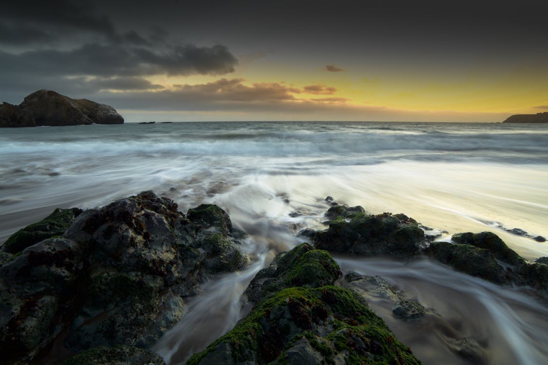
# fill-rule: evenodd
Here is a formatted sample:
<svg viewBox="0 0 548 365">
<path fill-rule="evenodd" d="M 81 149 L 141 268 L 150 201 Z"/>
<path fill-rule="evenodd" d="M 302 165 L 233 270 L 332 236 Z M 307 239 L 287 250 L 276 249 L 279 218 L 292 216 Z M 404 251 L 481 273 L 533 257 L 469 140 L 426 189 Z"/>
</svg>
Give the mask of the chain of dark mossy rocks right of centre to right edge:
<svg viewBox="0 0 548 365">
<path fill-rule="evenodd" d="M 333 198 L 326 199 L 332 202 Z M 334 208 L 339 208 L 334 210 Z M 528 263 L 499 236 L 491 232 L 459 233 L 453 242 L 432 242 L 426 245 L 425 227 L 403 214 L 366 215 L 348 207 L 335 205 L 326 216 L 333 220 L 323 231 L 304 229 L 300 236 L 309 238 L 316 248 L 329 252 L 359 256 L 389 256 L 410 259 L 426 254 L 453 269 L 492 281 L 499 285 L 530 286 L 548 297 L 548 265 L 544 259 Z M 331 213 L 330 213 L 331 212 Z M 339 215 L 333 218 L 337 212 Z M 346 215 L 346 217 L 344 216 Z M 351 218 L 351 219 L 349 219 Z M 432 236 L 432 239 L 436 236 Z"/>
</svg>

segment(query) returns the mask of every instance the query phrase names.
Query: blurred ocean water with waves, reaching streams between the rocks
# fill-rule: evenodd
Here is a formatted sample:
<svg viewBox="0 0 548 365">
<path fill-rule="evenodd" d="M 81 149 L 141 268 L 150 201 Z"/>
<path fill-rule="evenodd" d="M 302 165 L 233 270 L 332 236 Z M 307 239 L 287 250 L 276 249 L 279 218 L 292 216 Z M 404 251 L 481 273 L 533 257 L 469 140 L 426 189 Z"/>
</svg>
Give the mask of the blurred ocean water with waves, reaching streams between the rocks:
<svg viewBox="0 0 548 365">
<path fill-rule="evenodd" d="M 548 256 L 548 243 L 534 239 L 548 238 L 547 124 L 210 122 L 0 130 L 0 242 L 55 207 L 98 207 L 143 190 L 173 199 L 182 212 L 203 202 L 221 206 L 250 234 L 254 258 L 247 270 L 208 283 L 190 300 L 188 314 L 154 349 L 171 364 L 236 323 L 247 283 L 276 253 L 302 241 L 299 230 L 326 227 L 326 196 L 372 214 L 405 213 L 446 232 L 440 240 L 489 230 L 526 259 Z M 402 322 L 383 300 L 369 300 L 425 364 L 470 363 L 455 355 L 463 339 L 481 350 L 485 363 L 548 361 L 548 309 L 523 288 L 496 286 L 427 259 L 336 259 L 343 272 L 383 276 L 442 318 Z"/>
</svg>

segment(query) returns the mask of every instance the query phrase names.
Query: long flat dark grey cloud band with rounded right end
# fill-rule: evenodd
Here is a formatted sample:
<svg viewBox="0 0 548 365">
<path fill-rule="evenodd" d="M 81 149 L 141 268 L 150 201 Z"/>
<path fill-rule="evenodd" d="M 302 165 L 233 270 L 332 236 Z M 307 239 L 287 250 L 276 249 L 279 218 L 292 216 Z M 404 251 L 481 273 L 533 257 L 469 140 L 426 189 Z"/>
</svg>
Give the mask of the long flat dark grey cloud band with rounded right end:
<svg viewBox="0 0 548 365">
<path fill-rule="evenodd" d="M 0 51 L 0 80 L 4 77 L 146 76 L 154 74 L 225 74 L 235 71 L 238 61 L 222 45 L 176 46 L 152 50 L 133 45 L 86 44 L 73 50 L 36 50 L 20 54 Z"/>
</svg>

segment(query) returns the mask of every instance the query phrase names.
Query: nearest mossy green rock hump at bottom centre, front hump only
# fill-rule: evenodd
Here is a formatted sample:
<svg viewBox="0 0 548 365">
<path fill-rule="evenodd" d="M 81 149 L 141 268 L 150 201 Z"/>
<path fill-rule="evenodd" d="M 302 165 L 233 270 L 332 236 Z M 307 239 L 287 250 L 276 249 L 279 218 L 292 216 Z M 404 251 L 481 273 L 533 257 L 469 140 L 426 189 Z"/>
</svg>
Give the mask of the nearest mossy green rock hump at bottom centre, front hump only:
<svg viewBox="0 0 548 365">
<path fill-rule="evenodd" d="M 334 286 L 277 292 L 187 364 L 290 363 L 302 351 L 318 363 L 420 364 L 357 293 Z"/>
</svg>

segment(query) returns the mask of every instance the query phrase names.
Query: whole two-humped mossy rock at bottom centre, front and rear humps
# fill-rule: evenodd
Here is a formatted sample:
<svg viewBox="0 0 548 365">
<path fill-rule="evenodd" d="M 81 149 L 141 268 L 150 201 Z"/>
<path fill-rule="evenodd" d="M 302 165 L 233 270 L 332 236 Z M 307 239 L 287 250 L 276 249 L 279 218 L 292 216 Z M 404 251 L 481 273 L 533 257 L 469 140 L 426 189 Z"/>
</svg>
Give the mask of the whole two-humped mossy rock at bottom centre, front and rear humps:
<svg viewBox="0 0 548 365">
<path fill-rule="evenodd" d="M 250 296 L 258 299 L 252 311 L 187 364 L 419 364 L 363 298 L 333 286 L 338 266 L 317 251 L 302 244 L 276 257 L 248 288 L 261 294 Z M 292 286 L 297 272 L 306 287 Z M 310 272 L 322 279 L 310 280 Z"/>
</svg>

